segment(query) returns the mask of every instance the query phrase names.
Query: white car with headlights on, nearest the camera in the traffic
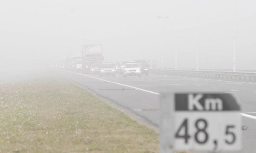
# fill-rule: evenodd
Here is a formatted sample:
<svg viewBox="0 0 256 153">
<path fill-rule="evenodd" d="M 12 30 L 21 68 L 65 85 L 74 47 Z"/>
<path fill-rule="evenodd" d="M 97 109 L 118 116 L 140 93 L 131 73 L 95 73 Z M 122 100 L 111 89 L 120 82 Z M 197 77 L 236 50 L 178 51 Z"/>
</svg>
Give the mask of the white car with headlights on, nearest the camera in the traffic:
<svg viewBox="0 0 256 153">
<path fill-rule="evenodd" d="M 124 67 L 123 76 L 138 76 L 141 77 L 141 70 L 138 63 L 126 63 Z"/>
</svg>

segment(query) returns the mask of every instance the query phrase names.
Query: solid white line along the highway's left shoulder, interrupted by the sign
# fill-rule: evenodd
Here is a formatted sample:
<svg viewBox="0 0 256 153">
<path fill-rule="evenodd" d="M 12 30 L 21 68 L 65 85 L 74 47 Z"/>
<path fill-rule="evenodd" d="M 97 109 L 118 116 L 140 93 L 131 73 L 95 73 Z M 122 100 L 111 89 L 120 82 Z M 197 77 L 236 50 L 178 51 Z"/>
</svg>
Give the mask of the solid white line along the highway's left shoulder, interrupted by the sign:
<svg viewBox="0 0 256 153">
<path fill-rule="evenodd" d="M 79 73 L 76 73 L 76 72 L 71 72 L 71 73 L 79 74 Z M 140 91 L 144 91 L 144 92 L 147 92 L 147 93 L 151 93 L 151 94 L 160 95 L 159 93 L 154 92 L 154 91 L 148 91 L 148 90 L 137 88 L 137 87 L 133 87 L 133 86 L 130 86 L 130 85 L 124 85 L 122 83 L 112 82 L 112 81 L 108 81 L 108 80 L 105 80 L 105 79 L 100 79 L 100 78 L 97 78 L 97 77 L 92 77 L 92 76 L 88 76 L 88 75 L 84 75 L 84 74 L 79 74 L 79 75 L 82 75 L 82 76 L 85 76 L 85 77 L 94 78 L 94 79 L 98 79 L 98 80 L 105 81 L 105 82 L 110 82 L 110 83 L 113 83 L 113 84 L 116 84 L 116 85 L 123 85 L 125 87 L 134 88 L 134 89 L 137 89 L 137 90 L 140 90 Z M 241 116 L 248 117 L 250 119 L 256 119 L 256 116 L 252 116 L 252 115 L 249 115 L 249 114 L 246 114 L 246 113 L 241 113 Z"/>
</svg>

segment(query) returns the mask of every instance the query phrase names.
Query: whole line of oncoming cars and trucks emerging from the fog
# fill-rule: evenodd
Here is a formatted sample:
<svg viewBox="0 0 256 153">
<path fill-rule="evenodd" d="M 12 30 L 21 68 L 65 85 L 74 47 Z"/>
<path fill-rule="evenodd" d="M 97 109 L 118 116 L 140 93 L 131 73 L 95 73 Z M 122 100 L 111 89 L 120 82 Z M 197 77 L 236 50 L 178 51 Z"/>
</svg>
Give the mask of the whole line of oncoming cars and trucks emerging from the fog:
<svg viewBox="0 0 256 153">
<path fill-rule="evenodd" d="M 123 60 L 105 62 L 102 55 L 102 45 L 83 45 L 82 57 L 66 57 L 61 68 L 85 74 L 99 74 L 102 76 L 116 76 L 116 74 L 141 77 L 148 76 L 149 65 L 145 60 Z"/>
</svg>

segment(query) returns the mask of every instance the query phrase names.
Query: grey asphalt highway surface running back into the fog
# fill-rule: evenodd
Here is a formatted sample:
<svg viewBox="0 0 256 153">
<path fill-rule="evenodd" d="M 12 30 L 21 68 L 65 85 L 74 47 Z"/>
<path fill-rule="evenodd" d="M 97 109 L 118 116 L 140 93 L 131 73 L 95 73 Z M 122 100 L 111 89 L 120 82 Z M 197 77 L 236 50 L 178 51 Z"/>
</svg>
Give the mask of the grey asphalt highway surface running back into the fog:
<svg viewBox="0 0 256 153">
<path fill-rule="evenodd" d="M 256 145 L 256 83 L 154 75 L 123 78 L 99 77 L 70 71 L 60 73 L 83 88 L 128 109 L 151 125 L 159 124 L 159 93 L 174 91 L 232 92 L 242 106 L 243 153 L 254 153 Z"/>
</svg>

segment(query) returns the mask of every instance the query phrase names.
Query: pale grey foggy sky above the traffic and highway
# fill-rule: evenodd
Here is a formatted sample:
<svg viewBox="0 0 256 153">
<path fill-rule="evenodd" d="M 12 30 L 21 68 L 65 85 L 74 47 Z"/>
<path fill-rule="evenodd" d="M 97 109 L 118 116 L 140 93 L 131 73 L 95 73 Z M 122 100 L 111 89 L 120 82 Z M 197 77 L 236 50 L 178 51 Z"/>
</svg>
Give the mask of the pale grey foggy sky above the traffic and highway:
<svg viewBox="0 0 256 153">
<path fill-rule="evenodd" d="M 256 1 L 236 0 L 236 66 L 256 70 Z M 0 68 L 40 67 L 102 44 L 105 61 L 231 69 L 235 0 L 1 0 Z M 199 49 L 198 49 L 199 48 Z"/>
</svg>

